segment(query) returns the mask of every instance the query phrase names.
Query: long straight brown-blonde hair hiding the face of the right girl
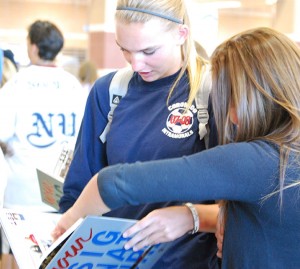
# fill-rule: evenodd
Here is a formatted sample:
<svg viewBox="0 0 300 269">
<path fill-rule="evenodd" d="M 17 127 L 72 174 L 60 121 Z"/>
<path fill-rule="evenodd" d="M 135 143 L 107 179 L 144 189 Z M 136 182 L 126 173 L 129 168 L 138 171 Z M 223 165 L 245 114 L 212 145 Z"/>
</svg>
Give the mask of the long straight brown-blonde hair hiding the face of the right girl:
<svg viewBox="0 0 300 269">
<path fill-rule="evenodd" d="M 300 156 L 300 49 L 280 32 L 255 28 L 219 45 L 211 65 L 219 143 L 264 139 L 278 145 L 282 197 L 289 155 L 298 162 Z"/>
</svg>

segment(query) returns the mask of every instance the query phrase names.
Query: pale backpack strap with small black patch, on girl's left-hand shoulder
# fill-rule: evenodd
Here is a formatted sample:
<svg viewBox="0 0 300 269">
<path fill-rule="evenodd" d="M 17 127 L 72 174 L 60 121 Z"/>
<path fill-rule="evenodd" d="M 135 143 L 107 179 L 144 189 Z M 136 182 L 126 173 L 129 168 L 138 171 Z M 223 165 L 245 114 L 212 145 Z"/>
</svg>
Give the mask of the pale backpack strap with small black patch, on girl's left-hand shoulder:
<svg viewBox="0 0 300 269">
<path fill-rule="evenodd" d="M 125 67 L 118 70 L 113 76 L 110 86 L 109 86 L 109 105 L 110 111 L 107 114 L 107 124 L 102 134 L 100 135 L 100 140 L 102 143 L 106 142 L 106 135 L 110 130 L 110 125 L 113 119 L 113 113 L 117 105 L 120 103 L 121 99 L 126 95 L 128 84 L 132 78 L 133 71 L 131 68 Z"/>
</svg>

